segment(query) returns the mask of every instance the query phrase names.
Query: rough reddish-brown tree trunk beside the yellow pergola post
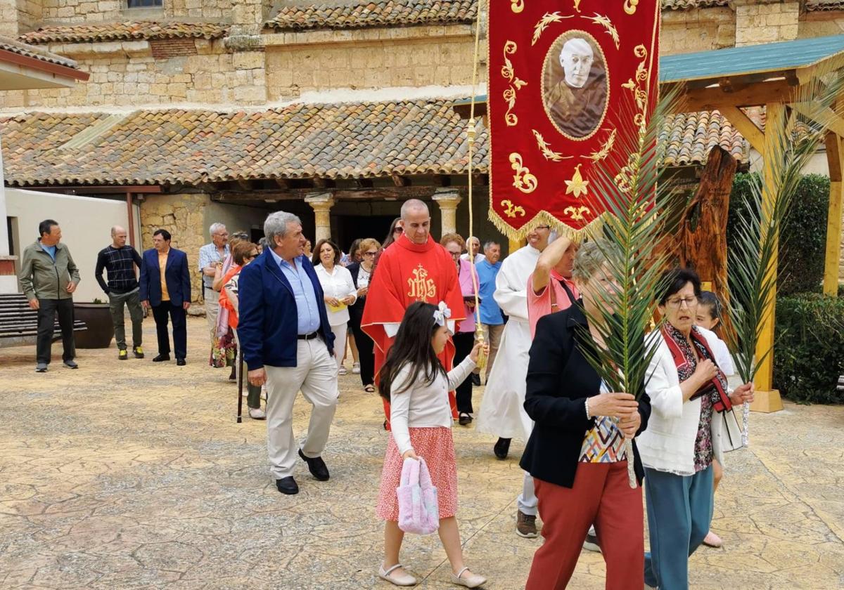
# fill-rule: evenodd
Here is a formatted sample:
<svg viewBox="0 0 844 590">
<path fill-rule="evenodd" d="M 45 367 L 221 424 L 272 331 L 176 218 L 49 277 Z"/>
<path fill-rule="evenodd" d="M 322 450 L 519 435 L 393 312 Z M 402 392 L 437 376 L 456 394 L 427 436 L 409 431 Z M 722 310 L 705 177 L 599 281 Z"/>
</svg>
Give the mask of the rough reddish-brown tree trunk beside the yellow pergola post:
<svg viewBox="0 0 844 590">
<path fill-rule="evenodd" d="M 701 184 L 680 223 L 680 266 L 694 268 L 701 282 L 710 283 L 722 303 L 728 303 L 727 217 L 730 191 L 738 163 L 727 150 L 716 146 L 706 158 Z M 690 217 L 699 212 L 692 228 Z M 722 316 L 723 330 L 730 330 L 727 314 Z"/>
</svg>

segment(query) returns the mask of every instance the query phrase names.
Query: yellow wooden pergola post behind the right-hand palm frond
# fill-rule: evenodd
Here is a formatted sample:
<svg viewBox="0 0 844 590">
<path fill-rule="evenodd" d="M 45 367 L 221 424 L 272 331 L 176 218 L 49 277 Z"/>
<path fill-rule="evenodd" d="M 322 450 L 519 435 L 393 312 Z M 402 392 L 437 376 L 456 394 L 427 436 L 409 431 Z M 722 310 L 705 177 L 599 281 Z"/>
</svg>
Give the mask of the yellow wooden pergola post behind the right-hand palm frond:
<svg viewBox="0 0 844 590">
<path fill-rule="evenodd" d="M 771 154 L 776 153 L 776 147 L 771 144 L 779 130 L 786 126 L 786 107 L 782 103 L 770 103 L 766 108 L 766 129 L 765 129 L 765 166 L 763 169 L 762 186 L 762 211 L 769 212 L 774 206 L 776 193 L 772 190 L 775 185 L 776 168 Z M 771 261 L 771 268 L 768 272 L 776 278 L 777 255 L 774 249 L 774 258 Z M 780 392 L 773 389 L 774 380 L 774 324 L 776 322 L 776 289 L 771 294 L 771 301 L 768 302 L 763 314 L 762 330 L 759 341 L 756 343 L 756 357 L 761 357 L 767 351 L 771 351 L 762 362 L 759 373 L 756 373 L 755 401 L 750 409 L 761 412 L 774 412 L 782 410 Z"/>
</svg>

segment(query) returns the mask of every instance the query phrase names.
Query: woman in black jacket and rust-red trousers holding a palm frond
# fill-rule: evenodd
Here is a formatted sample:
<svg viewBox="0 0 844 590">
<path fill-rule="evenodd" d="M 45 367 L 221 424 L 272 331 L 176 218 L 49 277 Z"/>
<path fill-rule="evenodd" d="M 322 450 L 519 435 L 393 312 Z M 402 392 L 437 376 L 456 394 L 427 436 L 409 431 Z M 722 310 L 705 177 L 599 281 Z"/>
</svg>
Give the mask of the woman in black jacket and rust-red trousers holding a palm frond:
<svg viewBox="0 0 844 590">
<path fill-rule="evenodd" d="M 540 319 L 530 350 L 524 407 L 536 424 L 521 466 L 533 475 L 545 543 L 533 556 L 527 590 L 566 587 L 593 523 L 607 563 L 606 587 L 642 586 L 644 472 L 634 442 L 640 485 L 631 489 L 624 439 L 645 429 L 650 400 L 603 389 L 582 352 L 603 346 L 584 309 L 598 318 L 598 306 L 613 305 L 601 298 L 613 286 L 604 265 L 597 244 L 578 249 L 572 277 L 582 299 Z"/>
</svg>

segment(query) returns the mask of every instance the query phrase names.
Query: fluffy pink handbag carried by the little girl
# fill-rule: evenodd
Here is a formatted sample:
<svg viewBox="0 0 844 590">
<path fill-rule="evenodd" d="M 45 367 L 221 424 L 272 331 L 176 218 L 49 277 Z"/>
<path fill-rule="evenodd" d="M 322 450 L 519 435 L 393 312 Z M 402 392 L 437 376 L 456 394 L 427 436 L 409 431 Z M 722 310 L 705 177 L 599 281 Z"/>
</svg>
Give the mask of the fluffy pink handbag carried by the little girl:
<svg viewBox="0 0 844 590">
<path fill-rule="evenodd" d="M 440 527 L 436 487 L 425 459 L 404 459 L 398 495 L 398 528 L 405 533 L 431 534 Z"/>
</svg>

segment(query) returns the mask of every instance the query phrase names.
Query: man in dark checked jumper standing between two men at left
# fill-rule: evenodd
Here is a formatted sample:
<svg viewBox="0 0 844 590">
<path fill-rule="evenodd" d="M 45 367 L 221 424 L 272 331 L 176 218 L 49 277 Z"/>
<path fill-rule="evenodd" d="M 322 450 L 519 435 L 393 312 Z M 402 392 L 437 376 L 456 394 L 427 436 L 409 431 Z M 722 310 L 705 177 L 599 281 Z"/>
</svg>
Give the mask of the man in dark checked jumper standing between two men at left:
<svg viewBox="0 0 844 590">
<path fill-rule="evenodd" d="M 132 318 L 132 352 L 135 358 L 143 358 L 143 309 L 138 298 L 138 275 L 135 274 L 135 266 L 138 266 L 138 270 L 141 268 L 141 257 L 131 245 L 126 244 L 126 236 L 126 230 L 119 225 L 111 228 L 111 245 L 100 250 L 94 271 L 97 282 L 108 295 L 114 339 L 117 342 L 117 358 L 121 361 L 129 357 L 123 318 L 124 303 L 129 308 L 129 317 Z M 103 280 L 103 269 L 108 271 L 108 283 Z"/>
</svg>

